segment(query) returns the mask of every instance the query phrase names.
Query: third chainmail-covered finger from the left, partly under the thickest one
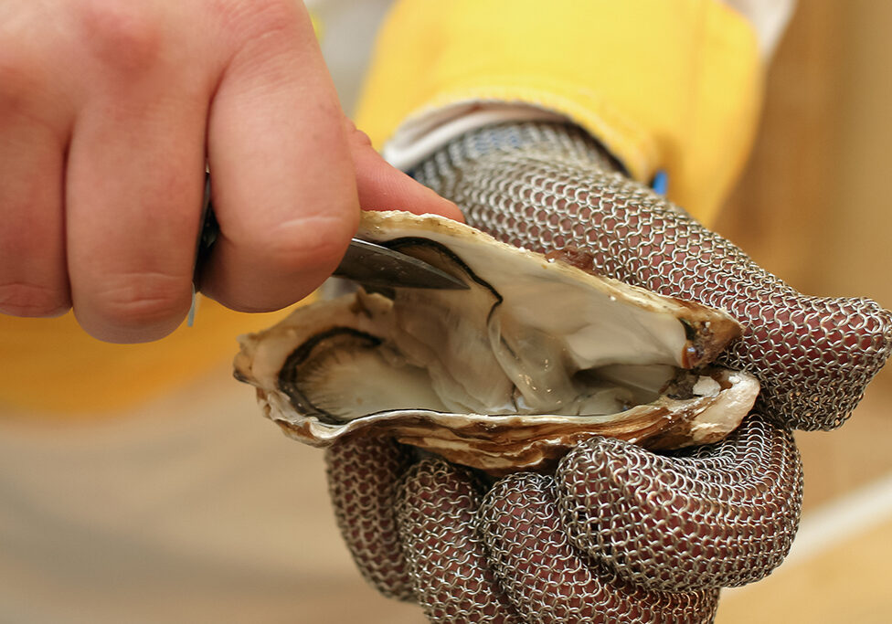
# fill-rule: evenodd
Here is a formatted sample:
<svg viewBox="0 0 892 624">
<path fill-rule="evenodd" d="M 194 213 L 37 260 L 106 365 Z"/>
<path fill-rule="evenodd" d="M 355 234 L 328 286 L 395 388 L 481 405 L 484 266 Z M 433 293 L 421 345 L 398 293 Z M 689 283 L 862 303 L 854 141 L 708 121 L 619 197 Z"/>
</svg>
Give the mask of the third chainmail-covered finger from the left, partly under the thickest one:
<svg viewBox="0 0 892 624">
<path fill-rule="evenodd" d="M 524 472 L 499 481 L 480 508 L 490 561 L 529 622 L 709 622 L 718 590 L 670 594 L 625 583 L 570 544 L 554 480 Z"/>
</svg>

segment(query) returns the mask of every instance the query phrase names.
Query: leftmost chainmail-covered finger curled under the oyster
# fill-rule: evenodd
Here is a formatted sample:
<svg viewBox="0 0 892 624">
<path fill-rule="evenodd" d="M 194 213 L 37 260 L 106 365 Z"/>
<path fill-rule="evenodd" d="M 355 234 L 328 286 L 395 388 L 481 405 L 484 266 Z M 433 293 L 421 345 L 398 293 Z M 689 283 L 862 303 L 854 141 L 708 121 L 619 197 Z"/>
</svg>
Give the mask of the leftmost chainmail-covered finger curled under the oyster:
<svg viewBox="0 0 892 624">
<path fill-rule="evenodd" d="M 356 566 L 379 592 L 400 600 L 413 595 L 393 510 L 411 459 L 389 438 L 347 438 L 325 451 L 335 518 Z"/>
</svg>

